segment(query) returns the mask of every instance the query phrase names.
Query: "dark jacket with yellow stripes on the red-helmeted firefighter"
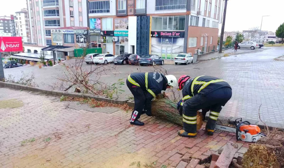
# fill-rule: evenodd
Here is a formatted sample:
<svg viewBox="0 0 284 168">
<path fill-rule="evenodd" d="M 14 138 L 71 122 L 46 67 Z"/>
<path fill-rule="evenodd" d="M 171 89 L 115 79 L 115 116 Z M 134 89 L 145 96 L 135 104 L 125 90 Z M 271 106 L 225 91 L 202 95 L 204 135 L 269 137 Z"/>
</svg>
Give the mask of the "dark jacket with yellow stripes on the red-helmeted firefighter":
<svg viewBox="0 0 284 168">
<path fill-rule="evenodd" d="M 205 96 L 206 94 L 213 92 L 222 87 L 231 86 L 222 79 L 213 76 L 197 76 L 195 78 L 188 79 L 182 89 L 183 100 L 187 100 L 196 94 Z"/>
</svg>

